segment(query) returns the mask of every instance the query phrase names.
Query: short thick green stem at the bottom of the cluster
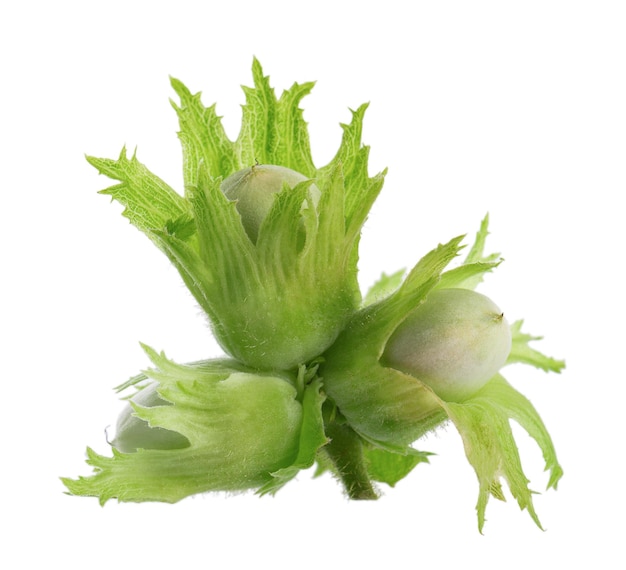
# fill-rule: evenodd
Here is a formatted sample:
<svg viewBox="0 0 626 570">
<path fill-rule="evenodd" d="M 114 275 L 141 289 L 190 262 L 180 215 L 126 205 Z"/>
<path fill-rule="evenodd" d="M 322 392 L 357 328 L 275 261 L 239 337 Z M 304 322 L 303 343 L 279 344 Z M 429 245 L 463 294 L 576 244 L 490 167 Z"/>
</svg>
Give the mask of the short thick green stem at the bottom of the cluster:
<svg viewBox="0 0 626 570">
<path fill-rule="evenodd" d="M 361 438 L 350 426 L 336 421 L 326 426 L 326 435 L 330 443 L 324 450 L 333 462 L 348 497 L 355 500 L 378 499 L 365 467 Z"/>
</svg>

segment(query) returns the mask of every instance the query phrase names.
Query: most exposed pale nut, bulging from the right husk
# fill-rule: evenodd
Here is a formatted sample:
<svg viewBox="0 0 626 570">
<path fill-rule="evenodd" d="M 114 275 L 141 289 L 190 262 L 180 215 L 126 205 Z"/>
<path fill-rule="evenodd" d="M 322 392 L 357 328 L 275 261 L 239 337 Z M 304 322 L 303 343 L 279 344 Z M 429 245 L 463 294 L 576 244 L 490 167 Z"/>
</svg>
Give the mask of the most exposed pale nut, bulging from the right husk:
<svg viewBox="0 0 626 570">
<path fill-rule="evenodd" d="M 463 401 L 504 366 L 511 329 L 496 304 L 469 289 L 440 289 L 389 339 L 382 363 L 410 374 L 446 401 Z"/>
</svg>

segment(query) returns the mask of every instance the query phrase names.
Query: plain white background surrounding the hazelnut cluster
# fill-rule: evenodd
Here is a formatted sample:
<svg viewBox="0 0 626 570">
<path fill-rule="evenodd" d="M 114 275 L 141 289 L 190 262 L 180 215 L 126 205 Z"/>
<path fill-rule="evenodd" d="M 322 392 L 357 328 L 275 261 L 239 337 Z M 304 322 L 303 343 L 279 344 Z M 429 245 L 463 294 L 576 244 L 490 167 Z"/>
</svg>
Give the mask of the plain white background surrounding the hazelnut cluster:
<svg viewBox="0 0 626 570">
<path fill-rule="evenodd" d="M 604 1 L 3 4 L 0 565 L 623 568 L 625 28 L 623 3 Z M 310 473 L 275 498 L 101 508 L 63 493 L 58 476 L 89 473 L 86 445 L 107 451 L 111 388 L 147 365 L 138 341 L 181 362 L 219 354 L 83 155 L 137 146 L 180 189 L 168 75 L 217 102 L 234 137 L 253 55 L 279 93 L 317 80 L 303 102 L 317 164 L 348 108 L 371 102 L 371 172 L 389 175 L 364 229 L 364 286 L 490 213 L 506 262 L 482 291 L 568 363 L 507 371 L 565 469 L 536 496 L 545 532 L 511 500 L 477 532 L 452 429 L 420 442 L 438 455 L 378 502 Z M 542 491 L 539 453 L 519 442 Z"/>
</svg>

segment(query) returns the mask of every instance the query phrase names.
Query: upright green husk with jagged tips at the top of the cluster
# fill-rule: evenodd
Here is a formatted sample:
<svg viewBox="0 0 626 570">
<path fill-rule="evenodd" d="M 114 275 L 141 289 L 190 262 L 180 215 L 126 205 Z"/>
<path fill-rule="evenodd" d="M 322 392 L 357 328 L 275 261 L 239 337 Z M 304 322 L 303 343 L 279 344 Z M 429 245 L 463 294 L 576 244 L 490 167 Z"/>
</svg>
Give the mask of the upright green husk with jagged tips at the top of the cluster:
<svg viewBox="0 0 626 570">
<path fill-rule="evenodd" d="M 278 99 L 253 63 L 254 88 L 244 88 L 241 131 L 224 132 L 215 106 L 205 107 L 180 81 L 172 86 L 183 147 L 184 196 L 123 150 L 117 160 L 88 157 L 119 181 L 103 193 L 150 237 L 178 269 L 232 357 L 265 370 L 293 370 L 335 340 L 360 303 L 357 283 L 361 226 L 384 172 L 370 177 L 361 144 L 366 105 L 343 127 L 335 157 L 316 168 L 300 100 L 312 83 L 294 84 Z M 222 181 L 254 164 L 279 165 L 307 181 L 279 192 L 250 239 Z M 315 179 L 314 207 L 311 193 Z M 309 204 L 303 209 L 303 204 Z M 304 225 L 305 243 L 295 238 Z"/>
</svg>

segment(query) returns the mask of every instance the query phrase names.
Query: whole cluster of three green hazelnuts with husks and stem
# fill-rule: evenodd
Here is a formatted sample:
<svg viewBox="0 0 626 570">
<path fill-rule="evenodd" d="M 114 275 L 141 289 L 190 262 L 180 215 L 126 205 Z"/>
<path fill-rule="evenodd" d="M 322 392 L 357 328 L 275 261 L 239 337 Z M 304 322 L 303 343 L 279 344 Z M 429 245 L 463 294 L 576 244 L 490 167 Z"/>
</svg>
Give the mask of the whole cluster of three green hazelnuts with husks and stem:
<svg viewBox="0 0 626 570">
<path fill-rule="evenodd" d="M 559 372 L 563 363 L 473 291 L 500 263 L 484 254 L 487 218 L 462 262 L 457 237 L 362 297 L 361 228 L 385 176 L 368 173 L 366 105 L 317 167 L 299 106 L 313 84 L 277 98 L 256 60 L 252 71 L 234 141 L 214 106 L 172 80 L 183 192 L 125 150 L 88 157 L 116 181 L 102 192 L 176 267 L 226 356 L 181 365 L 144 347 L 153 367 L 119 387 L 136 392 L 112 456 L 88 450 L 95 473 L 63 479 L 68 490 L 101 503 L 275 493 L 317 465 L 350 498 L 375 499 L 379 483 L 393 487 L 428 462 L 413 444 L 451 423 L 478 477 L 479 528 L 489 497 L 503 498 L 501 478 L 539 525 L 511 420 L 542 450 L 548 487 L 562 470 L 539 415 L 501 368 Z"/>
</svg>

